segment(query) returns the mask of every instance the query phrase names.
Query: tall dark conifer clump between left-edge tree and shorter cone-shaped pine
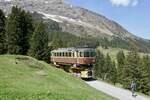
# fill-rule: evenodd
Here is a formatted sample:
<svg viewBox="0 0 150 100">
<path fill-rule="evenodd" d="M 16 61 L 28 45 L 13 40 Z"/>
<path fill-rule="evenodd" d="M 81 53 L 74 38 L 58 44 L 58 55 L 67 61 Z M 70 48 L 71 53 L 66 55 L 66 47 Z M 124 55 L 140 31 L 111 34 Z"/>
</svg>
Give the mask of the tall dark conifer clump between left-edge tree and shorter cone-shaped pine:
<svg viewBox="0 0 150 100">
<path fill-rule="evenodd" d="M 29 37 L 33 33 L 32 17 L 21 8 L 12 7 L 6 22 L 7 51 L 10 54 L 26 54 Z"/>
</svg>

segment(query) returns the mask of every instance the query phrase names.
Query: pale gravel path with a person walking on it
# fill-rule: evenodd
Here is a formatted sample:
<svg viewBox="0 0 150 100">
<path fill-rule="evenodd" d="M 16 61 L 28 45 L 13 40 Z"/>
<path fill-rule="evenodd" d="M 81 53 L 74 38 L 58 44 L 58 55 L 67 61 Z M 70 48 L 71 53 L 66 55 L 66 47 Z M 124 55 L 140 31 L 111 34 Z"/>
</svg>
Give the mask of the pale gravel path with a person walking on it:
<svg viewBox="0 0 150 100">
<path fill-rule="evenodd" d="M 114 87 L 108 83 L 104 83 L 101 81 L 87 81 L 87 84 L 100 90 L 108 95 L 111 95 L 119 100 L 150 100 L 150 98 L 146 98 L 141 95 L 137 95 L 136 97 L 132 97 L 132 93 L 128 90 Z"/>
</svg>

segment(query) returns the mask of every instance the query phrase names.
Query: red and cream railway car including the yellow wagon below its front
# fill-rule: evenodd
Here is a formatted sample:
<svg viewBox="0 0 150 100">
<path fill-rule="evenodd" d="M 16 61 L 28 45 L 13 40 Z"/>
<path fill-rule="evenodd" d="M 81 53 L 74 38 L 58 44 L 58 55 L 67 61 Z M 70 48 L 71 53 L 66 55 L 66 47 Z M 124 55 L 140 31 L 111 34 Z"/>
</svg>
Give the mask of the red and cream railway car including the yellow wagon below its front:
<svg viewBox="0 0 150 100">
<path fill-rule="evenodd" d="M 51 61 L 59 66 L 71 66 L 69 71 L 81 78 L 92 78 L 95 49 L 60 48 L 51 51 Z"/>
</svg>

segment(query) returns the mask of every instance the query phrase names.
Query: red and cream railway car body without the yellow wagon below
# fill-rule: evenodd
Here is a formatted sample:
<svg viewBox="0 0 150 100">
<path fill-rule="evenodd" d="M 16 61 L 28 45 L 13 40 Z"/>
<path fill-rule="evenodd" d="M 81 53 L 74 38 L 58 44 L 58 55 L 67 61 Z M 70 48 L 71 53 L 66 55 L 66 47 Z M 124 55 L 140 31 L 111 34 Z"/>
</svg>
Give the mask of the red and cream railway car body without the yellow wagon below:
<svg viewBox="0 0 150 100">
<path fill-rule="evenodd" d="M 51 52 L 51 61 L 70 65 L 94 64 L 95 50 L 91 48 L 61 48 Z"/>
</svg>

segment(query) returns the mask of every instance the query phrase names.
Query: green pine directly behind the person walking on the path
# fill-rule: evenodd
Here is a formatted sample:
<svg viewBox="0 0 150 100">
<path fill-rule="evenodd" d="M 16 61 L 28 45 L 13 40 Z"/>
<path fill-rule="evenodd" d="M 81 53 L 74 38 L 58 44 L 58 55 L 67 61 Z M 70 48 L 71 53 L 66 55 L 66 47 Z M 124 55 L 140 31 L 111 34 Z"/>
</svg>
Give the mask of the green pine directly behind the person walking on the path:
<svg viewBox="0 0 150 100">
<path fill-rule="evenodd" d="M 132 50 L 127 55 L 126 64 L 123 68 L 123 86 L 130 89 L 133 80 L 136 80 L 137 85 L 139 85 L 140 78 L 140 57 L 136 50 Z"/>
</svg>

